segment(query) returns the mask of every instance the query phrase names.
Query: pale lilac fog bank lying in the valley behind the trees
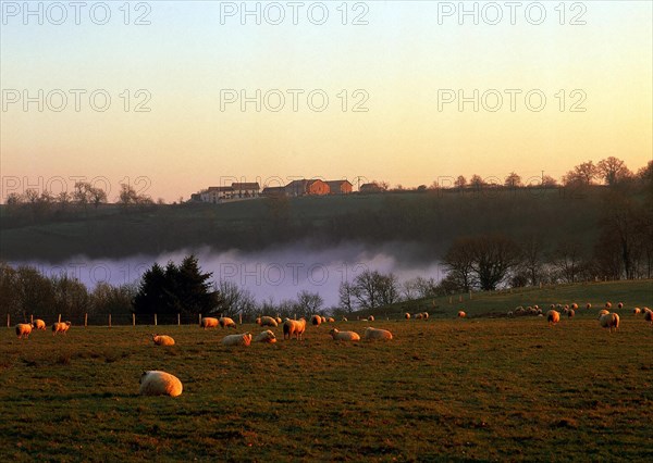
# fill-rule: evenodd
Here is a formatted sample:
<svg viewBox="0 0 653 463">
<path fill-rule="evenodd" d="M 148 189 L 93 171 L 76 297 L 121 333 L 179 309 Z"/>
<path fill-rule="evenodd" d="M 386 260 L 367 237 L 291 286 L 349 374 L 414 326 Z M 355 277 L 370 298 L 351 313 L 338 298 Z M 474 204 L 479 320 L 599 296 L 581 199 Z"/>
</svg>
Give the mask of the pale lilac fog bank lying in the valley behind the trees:
<svg viewBox="0 0 653 463">
<path fill-rule="evenodd" d="M 393 273 L 399 283 L 421 276 L 439 281 L 444 275 L 438 261 L 424 259 L 419 245 L 386 242 L 381 246 L 361 242 L 315 248 L 308 242 L 270 247 L 261 251 L 217 251 L 210 248 L 183 249 L 159 255 L 133 255 L 124 259 L 89 259 L 83 255 L 49 263 L 42 261 L 10 262 L 12 266 L 32 265 L 46 276 L 67 274 L 89 289 L 98 283 L 113 286 L 138 281 L 157 262 L 181 263 L 195 254 L 204 272 L 212 272 L 211 280 L 229 280 L 249 290 L 257 301 L 280 302 L 296 299 L 299 291 L 318 292 L 325 306 L 338 304 L 338 288 L 366 270 Z"/>
</svg>

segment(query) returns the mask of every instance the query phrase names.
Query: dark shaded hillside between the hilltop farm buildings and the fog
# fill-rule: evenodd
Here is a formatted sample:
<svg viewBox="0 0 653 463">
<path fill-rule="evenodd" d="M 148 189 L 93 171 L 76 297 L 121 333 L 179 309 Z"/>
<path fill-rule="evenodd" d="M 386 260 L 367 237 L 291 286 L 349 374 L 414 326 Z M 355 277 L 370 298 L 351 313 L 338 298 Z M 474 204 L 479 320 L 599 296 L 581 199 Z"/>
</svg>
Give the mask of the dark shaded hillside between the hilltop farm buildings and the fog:
<svg viewBox="0 0 653 463">
<path fill-rule="evenodd" d="M 502 233 L 545 237 L 553 246 L 596 236 L 602 188 L 466 192 L 395 192 L 347 197 L 260 199 L 224 204 L 114 204 L 47 220 L 15 217 L 0 208 L 0 259 L 63 260 L 72 255 L 122 258 L 204 246 L 263 249 L 306 240 L 318 247 L 343 241 L 419 243 L 433 259 L 455 237 Z"/>
</svg>

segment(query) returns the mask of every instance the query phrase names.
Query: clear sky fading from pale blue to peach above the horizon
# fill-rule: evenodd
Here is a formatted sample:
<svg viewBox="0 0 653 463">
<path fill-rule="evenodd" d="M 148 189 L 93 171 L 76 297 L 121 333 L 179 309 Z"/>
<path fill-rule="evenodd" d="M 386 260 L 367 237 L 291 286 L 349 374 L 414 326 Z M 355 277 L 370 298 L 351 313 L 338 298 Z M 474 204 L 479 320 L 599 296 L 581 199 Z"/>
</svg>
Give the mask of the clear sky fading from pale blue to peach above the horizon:
<svg viewBox="0 0 653 463">
<path fill-rule="evenodd" d="M 2 1 L 0 199 L 645 165 L 653 3 L 510 4 Z"/>
</svg>

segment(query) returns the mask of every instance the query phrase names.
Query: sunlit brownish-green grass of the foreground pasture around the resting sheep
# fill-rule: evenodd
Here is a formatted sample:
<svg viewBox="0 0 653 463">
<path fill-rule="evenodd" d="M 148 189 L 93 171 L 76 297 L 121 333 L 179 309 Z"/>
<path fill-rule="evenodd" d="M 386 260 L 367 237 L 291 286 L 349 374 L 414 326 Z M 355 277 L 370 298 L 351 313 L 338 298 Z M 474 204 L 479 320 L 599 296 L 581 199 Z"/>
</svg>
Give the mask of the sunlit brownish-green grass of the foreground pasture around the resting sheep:
<svg viewBox="0 0 653 463">
<path fill-rule="evenodd" d="M 0 461 L 650 461 L 653 328 L 626 308 L 609 334 L 594 312 L 375 322 L 387 342 L 336 343 L 328 324 L 248 348 L 196 326 L 157 327 L 171 348 L 147 326 L 4 328 Z M 184 393 L 137 396 L 144 370 Z"/>
</svg>

